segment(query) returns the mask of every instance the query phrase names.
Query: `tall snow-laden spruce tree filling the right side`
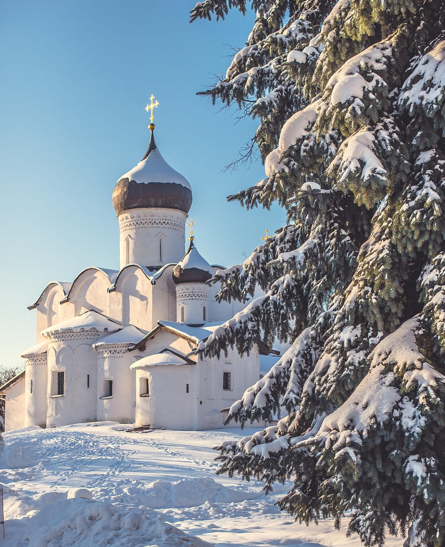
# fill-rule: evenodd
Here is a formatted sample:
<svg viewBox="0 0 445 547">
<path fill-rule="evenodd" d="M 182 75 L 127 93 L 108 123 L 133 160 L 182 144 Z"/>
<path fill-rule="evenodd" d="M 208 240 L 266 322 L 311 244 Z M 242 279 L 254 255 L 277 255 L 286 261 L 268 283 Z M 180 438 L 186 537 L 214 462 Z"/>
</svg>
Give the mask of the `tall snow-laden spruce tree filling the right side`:
<svg viewBox="0 0 445 547">
<path fill-rule="evenodd" d="M 229 200 L 286 208 L 288 222 L 219 298 L 265 295 L 200 344 L 292 346 L 229 409 L 242 425 L 219 473 L 294 481 L 299 521 L 351 511 L 366 545 L 445 539 L 445 32 L 437 0 L 205 0 L 256 20 L 205 92 L 259 120 L 266 178 Z M 254 181 L 252 181 L 253 183 Z"/>
</svg>

